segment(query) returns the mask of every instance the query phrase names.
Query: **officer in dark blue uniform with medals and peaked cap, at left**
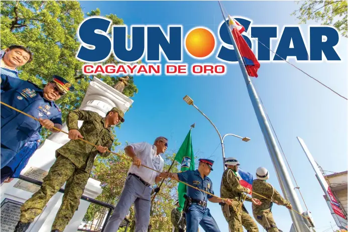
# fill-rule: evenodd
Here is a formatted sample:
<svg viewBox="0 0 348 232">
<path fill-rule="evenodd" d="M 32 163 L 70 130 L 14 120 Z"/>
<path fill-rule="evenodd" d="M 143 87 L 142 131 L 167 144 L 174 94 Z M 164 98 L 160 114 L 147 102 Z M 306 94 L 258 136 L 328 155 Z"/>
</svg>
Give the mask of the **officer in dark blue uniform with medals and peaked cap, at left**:
<svg viewBox="0 0 348 232">
<path fill-rule="evenodd" d="M 1 101 L 38 118 L 35 121 L 1 104 L 1 168 L 5 167 L 24 147 L 29 139 L 45 127 L 62 128 L 62 112 L 54 103 L 74 87 L 60 76 L 41 89 L 32 82 L 1 74 Z"/>
</svg>

